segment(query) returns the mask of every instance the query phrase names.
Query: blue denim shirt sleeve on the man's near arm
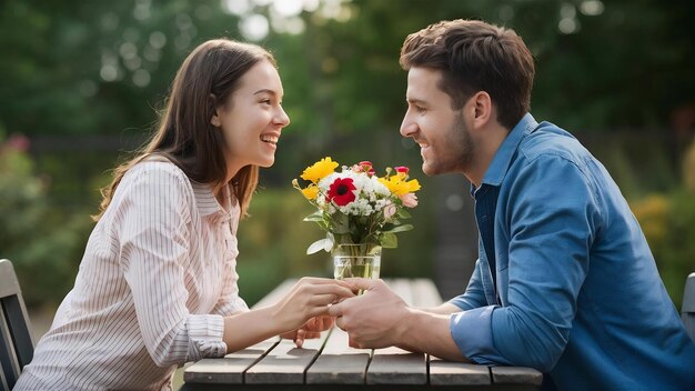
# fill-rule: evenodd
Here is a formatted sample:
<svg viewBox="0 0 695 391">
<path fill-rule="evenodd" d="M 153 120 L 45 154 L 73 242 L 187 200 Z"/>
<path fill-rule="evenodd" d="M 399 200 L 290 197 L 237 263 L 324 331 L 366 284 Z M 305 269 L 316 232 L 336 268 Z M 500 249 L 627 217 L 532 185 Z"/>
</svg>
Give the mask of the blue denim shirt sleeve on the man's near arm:
<svg viewBox="0 0 695 391">
<path fill-rule="evenodd" d="M 563 353 L 601 227 L 594 187 L 580 167 L 544 154 L 511 183 L 506 307 L 451 317 L 459 348 L 477 363 L 550 371 Z M 497 217 L 500 218 L 500 217 Z"/>
</svg>

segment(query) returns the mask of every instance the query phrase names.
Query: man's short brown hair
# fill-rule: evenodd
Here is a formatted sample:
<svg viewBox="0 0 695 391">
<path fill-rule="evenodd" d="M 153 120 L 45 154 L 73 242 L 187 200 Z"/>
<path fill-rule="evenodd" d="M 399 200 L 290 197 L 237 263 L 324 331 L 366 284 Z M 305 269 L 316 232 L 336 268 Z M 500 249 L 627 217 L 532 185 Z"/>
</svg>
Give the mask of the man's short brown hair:
<svg viewBox="0 0 695 391">
<path fill-rule="evenodd" d="M 485 91 L 497 108 L 497 122 L 512 129 L 530 111 L 533 57 L 514 30 L 479 20 L 430 24 L 407 36 L 401 67 L 439 69 L 439 83 L 461 108 L 477 91 Z"/>
</svg>

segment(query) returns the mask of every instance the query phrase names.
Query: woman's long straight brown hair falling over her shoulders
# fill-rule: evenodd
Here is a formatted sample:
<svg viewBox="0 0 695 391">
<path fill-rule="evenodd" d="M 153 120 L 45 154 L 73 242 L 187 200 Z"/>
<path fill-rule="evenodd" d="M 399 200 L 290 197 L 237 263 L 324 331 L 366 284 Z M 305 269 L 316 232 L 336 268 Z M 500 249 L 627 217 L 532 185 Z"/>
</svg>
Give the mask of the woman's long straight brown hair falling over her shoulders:
<svg viewBox="0 0 695 391">
<path fill-rule="evenodd" d="M 157 132 L 135 158 L 113 170 L 113 181 L 101 189 L 99 214 L 92 218 L 98 221 L 103 215 L 125 172 L 153 154 L 169 159 L 191 180 L 215 189 L 224 186 L 225 141 L 210 121 L 215 109 L 228 102 L 241 77 L 262 60 L 276 67 L 272 54 L 255 44 L 215 39 L 195 48 L 177 72 Z M 232 179 L 242 215 L 246 214 L 258 181 L 258 166 L 242 168 Z"/>
</svg>

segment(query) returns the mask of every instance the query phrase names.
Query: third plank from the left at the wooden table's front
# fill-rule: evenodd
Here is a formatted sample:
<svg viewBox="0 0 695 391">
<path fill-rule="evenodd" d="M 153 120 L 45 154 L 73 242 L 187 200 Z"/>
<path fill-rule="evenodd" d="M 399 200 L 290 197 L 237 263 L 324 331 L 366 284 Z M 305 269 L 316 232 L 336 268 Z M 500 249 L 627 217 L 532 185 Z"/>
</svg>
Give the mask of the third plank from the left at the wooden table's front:
<svg viewBox="0 0 695 391">
<path fill-rule="evenodd" d="M 364 384 L 371 349 L 348 345 L 348 333 L 334 328 L 321 355 L 306 371 L 306 384 Z"/>
</svg>

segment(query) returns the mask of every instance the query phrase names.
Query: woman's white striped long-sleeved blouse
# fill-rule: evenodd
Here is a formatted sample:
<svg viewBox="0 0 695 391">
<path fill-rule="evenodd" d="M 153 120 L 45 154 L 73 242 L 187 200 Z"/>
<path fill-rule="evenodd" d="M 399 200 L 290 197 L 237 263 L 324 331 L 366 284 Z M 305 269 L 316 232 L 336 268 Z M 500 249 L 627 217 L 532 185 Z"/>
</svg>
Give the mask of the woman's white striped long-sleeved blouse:
<svg viewBox="0 0 695 391">
<path fill-rule="evenodd" d="M 16 390 L 167 390 L 178 364 L 224 355 L 222 317 L 248 311 L 224 192 L 168 161 L 130 169 Z"/>
</svg>

